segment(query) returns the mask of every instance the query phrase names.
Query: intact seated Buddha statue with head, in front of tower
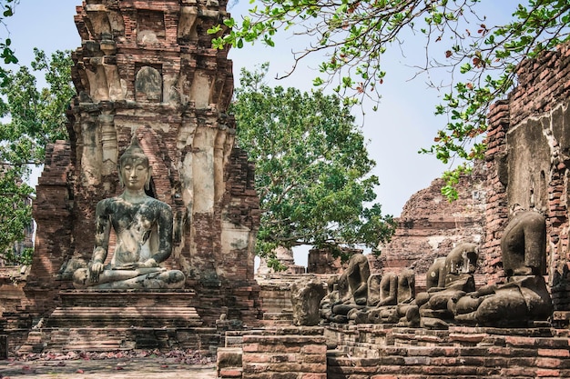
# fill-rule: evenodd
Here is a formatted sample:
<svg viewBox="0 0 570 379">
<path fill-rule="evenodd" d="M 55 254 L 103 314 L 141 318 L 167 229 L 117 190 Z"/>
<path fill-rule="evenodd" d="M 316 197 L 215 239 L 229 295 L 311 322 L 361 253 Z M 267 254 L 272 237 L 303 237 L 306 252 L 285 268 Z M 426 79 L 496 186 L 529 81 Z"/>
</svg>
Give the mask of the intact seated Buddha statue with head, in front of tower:
<svg viewBox="0 0 570 379">
<path fill-rule="evenodd" d="M 168 204 L 145 193 L 152 167 L 136 136 L 120 158 L 118 174 L 125 191 L 97 204 L 93 257 L 87 268 L 74 272 L 74 286 L 182 288 L 186 277 L 181 271 L 159 266 L 172 252 L 172 211 Z M 105 265 L 111 227 L 117 242 L 111 262 Z"/>
</svg>

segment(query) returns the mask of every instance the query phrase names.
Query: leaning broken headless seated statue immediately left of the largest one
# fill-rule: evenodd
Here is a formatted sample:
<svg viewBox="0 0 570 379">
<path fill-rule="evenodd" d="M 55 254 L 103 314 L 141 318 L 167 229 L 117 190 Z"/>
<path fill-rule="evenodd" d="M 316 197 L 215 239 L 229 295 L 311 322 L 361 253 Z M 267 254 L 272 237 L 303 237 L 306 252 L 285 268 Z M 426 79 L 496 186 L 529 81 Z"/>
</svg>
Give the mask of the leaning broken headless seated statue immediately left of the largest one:
<svg viewBox="0 0 570 379">
<path fill-rule="evenodd" d="M 453 322 L 453 307 L 457 300 L 475 290 L 473 273 L 477 258 L 477 245 L 463 243 L 454 247 L 444 261 L 435 260 L 426 275 L 427 283 L 438 286 L 427 288 L 427 292 L 418 294 L 415 299 L 422 327 L 444 329 Z M 437 282 L 433 277 L 436 273 Z"/>
</svg>

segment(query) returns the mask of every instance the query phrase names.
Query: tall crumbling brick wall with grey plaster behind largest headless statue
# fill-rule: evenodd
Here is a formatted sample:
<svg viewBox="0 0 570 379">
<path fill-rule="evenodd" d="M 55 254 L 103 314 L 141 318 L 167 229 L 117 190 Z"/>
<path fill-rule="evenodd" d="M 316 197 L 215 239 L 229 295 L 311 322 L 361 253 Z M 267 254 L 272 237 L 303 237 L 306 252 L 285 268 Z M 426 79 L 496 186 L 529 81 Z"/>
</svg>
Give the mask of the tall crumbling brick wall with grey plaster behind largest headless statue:
<svg viewBox="0 0 570 379">
<path fill-rule="evenodd" d="M 518 85 L 489 113 L 485 272 L 493 283 L 504 278 L 499 243 L 509 208 L 541 212 L 555 310 L 567 311 L 570 45 L 525 60 L 516 75 Z"/>
</svg>

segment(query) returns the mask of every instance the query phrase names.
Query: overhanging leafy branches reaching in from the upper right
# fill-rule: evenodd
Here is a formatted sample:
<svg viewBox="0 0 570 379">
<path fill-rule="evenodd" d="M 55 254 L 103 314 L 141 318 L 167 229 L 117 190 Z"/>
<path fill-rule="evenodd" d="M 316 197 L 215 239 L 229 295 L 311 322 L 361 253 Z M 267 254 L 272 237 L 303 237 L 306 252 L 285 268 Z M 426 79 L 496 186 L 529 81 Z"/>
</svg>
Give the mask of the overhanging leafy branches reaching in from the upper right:
<svg viewBox="0 0 570 379">
<path fill-rule="evenodd" d="M 430 148 L 447 164 L 461 158 L 467 165 L 447 173 L 443 193 L 453 198 L 458 173 L 473 159 L 483 157 L 488 107 L 507 94 L 515 66 L 570 39 L 570 2 L 528 0 L 516 7 L 512 21 L 486 25 L 480 5 L 492 0 L 259 0 L 241 22 L 224 20 L 209 30 L 219 34 L 215 47 L 243 47 L 261 40 L 274 45 L 280 30 L 303 39 L 294 53 L 295 65 L 320 53 L 321 77 L 315 85 L 334 83 L 334 90 L 351 103 L 370 96 L 380 98 L 387 73 L 382 55 L 389 48 L 405 49 L 404 36 L 424 36 L 425 61 L 420 71 L 444 68 L 449 81 L 435 85 L 445 93 L 436 115 L 446 115 Z M 225 27 L 231 28 L 224 34 Z M 442 46 L 443 45 L 443 46 Z M 294 70 L 293 67 L 293 70 Z"/>
</svg>

